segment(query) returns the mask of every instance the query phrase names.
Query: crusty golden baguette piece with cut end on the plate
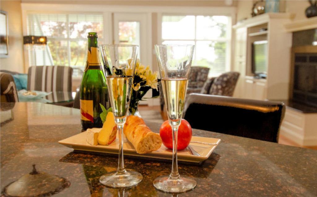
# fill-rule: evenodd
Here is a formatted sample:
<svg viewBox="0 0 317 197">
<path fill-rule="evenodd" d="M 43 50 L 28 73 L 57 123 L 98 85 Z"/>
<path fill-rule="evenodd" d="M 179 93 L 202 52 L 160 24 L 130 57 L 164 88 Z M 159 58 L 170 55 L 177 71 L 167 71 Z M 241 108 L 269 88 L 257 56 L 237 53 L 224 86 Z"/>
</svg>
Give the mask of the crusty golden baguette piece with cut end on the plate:
<svg viewBox="0 0 317 197">
<path fill-rule="evenodd" d="M 123 132 L 139 154 L 156 151 L 162 145 L 159 134 L 152 132 L 138 116 L 127 117 Z"/>
</svg>

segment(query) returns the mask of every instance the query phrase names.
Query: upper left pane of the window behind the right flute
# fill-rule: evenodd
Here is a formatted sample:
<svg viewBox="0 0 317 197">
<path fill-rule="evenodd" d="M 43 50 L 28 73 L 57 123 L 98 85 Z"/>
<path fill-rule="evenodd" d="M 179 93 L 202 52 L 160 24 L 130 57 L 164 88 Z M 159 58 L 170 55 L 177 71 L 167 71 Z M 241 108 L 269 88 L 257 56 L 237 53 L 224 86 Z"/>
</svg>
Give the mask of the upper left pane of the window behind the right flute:
<svg viewBox="0 0 317 197">
<path fill-rule="evenodd" d="M 162 38 L 163 40 L 194 40 L 195 16 L 163 16 Z"/>
</svg>

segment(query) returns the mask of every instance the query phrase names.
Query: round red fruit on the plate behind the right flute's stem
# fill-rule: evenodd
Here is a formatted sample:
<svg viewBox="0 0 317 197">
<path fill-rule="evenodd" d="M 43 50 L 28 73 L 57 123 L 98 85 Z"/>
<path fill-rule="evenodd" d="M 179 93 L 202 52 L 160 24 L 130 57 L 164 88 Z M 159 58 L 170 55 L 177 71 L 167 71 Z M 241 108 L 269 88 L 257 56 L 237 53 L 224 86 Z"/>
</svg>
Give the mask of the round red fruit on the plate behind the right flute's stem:
<svg viewBox="0 0 317 197">
<path fill-rule="evenodd" d="M 173 149 L 172 127 L 168 123 L 168 120 L 161 125 L 159 135 L 162 138 L 163 144 L 167 148 Z M 180 126 L 178 127 L 177 150 L 183 150 L 189 145 L 191 142 L 191 135 L 191 125 L 187 120 L 182 119 Z"/>
</svg>

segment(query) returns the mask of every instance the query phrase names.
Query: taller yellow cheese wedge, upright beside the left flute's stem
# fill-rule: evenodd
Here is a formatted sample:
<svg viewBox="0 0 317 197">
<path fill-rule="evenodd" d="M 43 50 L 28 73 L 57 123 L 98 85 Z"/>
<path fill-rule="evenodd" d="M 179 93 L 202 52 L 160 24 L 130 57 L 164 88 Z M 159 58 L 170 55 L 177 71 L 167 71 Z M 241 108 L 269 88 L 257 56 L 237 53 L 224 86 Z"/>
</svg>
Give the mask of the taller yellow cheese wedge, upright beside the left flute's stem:
<svg viewBox="0 0 317 197">
<path fill-rule="evenodd" d="M 97 138 L 98 144 L 109 145 L 116 139 L 116 135 L 117 126 L 114 122 L 114 115 L 112 112 L 108 112 L 106 121 L 104 122 Z"/>
</svg>

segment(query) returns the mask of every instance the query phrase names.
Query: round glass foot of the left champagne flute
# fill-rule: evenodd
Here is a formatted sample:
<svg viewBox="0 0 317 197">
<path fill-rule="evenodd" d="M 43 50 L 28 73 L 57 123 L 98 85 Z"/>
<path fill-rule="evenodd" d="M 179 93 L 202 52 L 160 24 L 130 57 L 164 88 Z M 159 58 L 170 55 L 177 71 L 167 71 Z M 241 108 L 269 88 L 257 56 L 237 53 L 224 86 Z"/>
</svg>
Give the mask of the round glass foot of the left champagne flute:
<svg viewBox="0 0 317 197">
<path fill-rule="evenodd" d="M 102 175 L 99 179 L 100 183 L 111 188 L 127 188 L 137 185 L 141 182 L 143 176 L 139 172 L 126 170 L 124 174 L 109 172 Z"/>
</svg>

